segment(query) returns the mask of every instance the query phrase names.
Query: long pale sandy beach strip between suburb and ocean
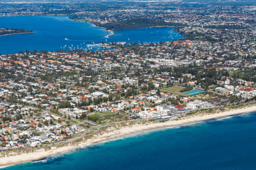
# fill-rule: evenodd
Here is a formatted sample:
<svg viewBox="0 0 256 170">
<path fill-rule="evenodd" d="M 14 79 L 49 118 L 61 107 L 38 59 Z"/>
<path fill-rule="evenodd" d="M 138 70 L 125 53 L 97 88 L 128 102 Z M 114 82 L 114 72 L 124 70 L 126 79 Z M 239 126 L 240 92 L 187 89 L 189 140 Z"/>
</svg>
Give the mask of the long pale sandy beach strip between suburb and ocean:
<svg viewBox="0 0 256 170">
<path fill-rule="evenodd" d="M 154 122 L 148 123 L 146 125 L 143 124 L 135 124 L 131 126 L 124 126 L 119 129 L 115 129 L 110 127 L 103 134 L 93 135 L 92 139 L 86 139 L 77 143 L 77 145 L 69 145 L 63 146 L 59 148 L 51 148 L 50 150 L 45 151 L 44 148 L 35 148 L 35 152 L 26 152 L 18 155 L 11 155 L 8 157 L 1 157 L 0 166 L 8 166 L 13 164 L 19 164 L 24 162 L 30 162 L 32 160 L 39 160 L 46 158 L 51 155 L 56 155 L 60 153 L 64 153 L 67 151 L 76 150 L 77 148 L 81 148 L 83 146 L 94 145 L 96 143 L 107 142 L 113 139 L 117 139 L 120 137 L 126 137 L 127 135 L 136 134 L 144 131 L 155 131 L 166 128 L 173 128 L 175 126 L 193 124 L 201 121 L 212 120 L 215 118 L 222 118 L 228 116 L 236 116 L 237 114 L 255 112 L 256 105 L 247 108 L 240 109 L 232 109 L 230 111 L 220 112 L 220 113 L 210 113 L 210 114 L 196 114 L 188 117 L 182 117 L 180 120 L 169 120 L 166 122 Z"/>
</svg>

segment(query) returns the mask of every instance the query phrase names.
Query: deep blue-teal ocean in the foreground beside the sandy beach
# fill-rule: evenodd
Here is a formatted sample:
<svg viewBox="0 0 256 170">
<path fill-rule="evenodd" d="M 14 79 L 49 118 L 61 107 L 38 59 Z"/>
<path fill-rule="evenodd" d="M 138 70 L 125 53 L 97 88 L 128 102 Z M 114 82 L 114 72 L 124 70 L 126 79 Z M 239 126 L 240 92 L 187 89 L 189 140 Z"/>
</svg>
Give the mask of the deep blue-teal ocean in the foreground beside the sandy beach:
<svg viewBox="0 0 256 170">
<path fill-rule="evenodd" d="M 137 134 L 5 169 L 256 169 L 255 131 L 256 112 L 245 113 Z"/>
</svg>

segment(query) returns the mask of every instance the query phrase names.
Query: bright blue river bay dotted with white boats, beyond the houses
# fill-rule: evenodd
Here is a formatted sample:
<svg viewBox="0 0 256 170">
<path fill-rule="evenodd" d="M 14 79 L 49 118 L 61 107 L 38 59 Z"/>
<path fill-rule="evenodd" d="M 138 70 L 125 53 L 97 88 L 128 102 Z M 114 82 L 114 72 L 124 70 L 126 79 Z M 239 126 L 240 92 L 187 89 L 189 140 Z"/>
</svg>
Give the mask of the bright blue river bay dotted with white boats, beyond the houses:
<svg viewBox="0 0 256 170">
<path fill-rule="evenodd" d="M 0 28 L 19 28 L 34 33 L 0 36 L 0 54 L 28 50 L 86 50 L 86 44 L 101 42 L 159 42 L 182 39 L 174 27 L 142 28 L 109 32 L 93 24 L 75 22 L 68 16 L 9 16 L 0 17 Z M 97 48 L 96 48 L 97 49 Z M 93 50 L 96 50 L 95 48 Z M 100 48 L 99 48 L 100 49 Z"/>
</svg>

